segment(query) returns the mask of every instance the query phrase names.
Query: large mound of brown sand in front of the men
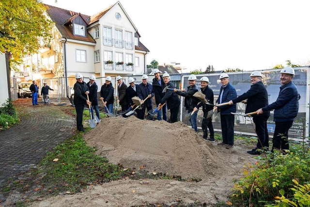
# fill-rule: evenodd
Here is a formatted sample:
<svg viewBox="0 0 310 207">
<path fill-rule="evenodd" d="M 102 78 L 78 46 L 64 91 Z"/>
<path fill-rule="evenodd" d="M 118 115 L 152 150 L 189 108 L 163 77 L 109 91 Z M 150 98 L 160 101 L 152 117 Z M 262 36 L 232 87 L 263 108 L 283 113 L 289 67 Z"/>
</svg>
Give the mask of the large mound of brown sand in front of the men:
<svg viewBox="0 0 310 207">
<path fill-rule="evenodd" d="M 224 167 L 217 149 L 181 122 L 106 118 L 84 138 L 99 155 L 124 167 L 182 178 L 212 176 Z"/>
</svg>

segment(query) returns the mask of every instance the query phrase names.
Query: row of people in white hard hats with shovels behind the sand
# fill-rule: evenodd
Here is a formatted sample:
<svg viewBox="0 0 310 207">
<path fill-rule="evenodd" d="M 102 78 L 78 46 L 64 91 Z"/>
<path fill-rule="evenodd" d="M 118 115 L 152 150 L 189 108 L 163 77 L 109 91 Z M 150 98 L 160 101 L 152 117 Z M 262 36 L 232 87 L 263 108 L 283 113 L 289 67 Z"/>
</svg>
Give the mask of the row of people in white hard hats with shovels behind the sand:
<svg viewBox="0 0 310 207">
<path fill-rule="evenodd" d="M 200 101 L 194 96 L 199 90 L 196 86 L 197 77 L 190 75 L 188 77 L 189 86 L 187 90 L 177 90 L 173 83 L 170 81 L 170 75 L 164 73 L 160 76 L 158 69 L 154 70 L 154 76 L 152 84 L 148 82 L 148 76 L 142 76 L 142 82 L 135 84 L 133 78 L 128 79 L 129 86 L 124 84 L 123 78 L 118 76 L 116 78 L 118 82 L 118 101 L 122 107 L 122 111 L 126 111 L 129 107 L 134 107 L 132 97 L 138 96 L 140 98 L 140 109 L 137 110 L 137 117 L 144 119 L 145 109 L 147 111 L 153 110 L 152 97 L 155 96 L 156 106 L 161 108 L 157 112 L 158 120 L 167 121 L 167 109 L 170 110 L 171 123 L 177 122 L 179 115 L 180 98 L 184 96 L 185 109 L 188 113 L 191 113 L 190 123 L 191 127 L 197 131 L 197 114 L 199 108 L 202 107 L 202 131 L 203 139 L 215 142 L 214 128 L 212 125 L 212 117 L 208 117 L 209 111 L 216 111 L 220 113 L 222 142 L 218 145 L 225 145 L 226 149 L 232 149 L 234 145 L 234 114 L 236 112 L 236 103 L 243 102 L 247 104 L 246 113 L 255 112 L 253 122 L 255 124 L 255 132 L 258 137 L 258 143 L 252 150 L 248 151 L 252 155 L 260 155 L 263 151 L 269 150 L 269 135 L 267 130 L 267 120 L 270 116 L 270 112 L 274 110 L 275 131 L 272 140 L 272 152 L 277 150 L 289 149 L 288 143 L 288 130 L 293 125 L 294 118 L 297 116 L 300 96 L 297 88 L 292 82 L 294 78 L 294 69 L 292 67 L 285 67 L 280 71 L 281 86 L 277 100 L 269 104 L 268 93 L 262 82 L 262 73 L 254 71 L 250 75 L 251 87 L 250 89 L 237 97 L 235 88 L 229 81 L 229 75 L 222 73 L 219 76 L 221 82 L 221 88 L 219 96 L 214 104 L 214 94 L 212 89 L 209 88 L 209 79 L 202 77 L 200 79 L 201 92 L 205 95 L 206 102 Z M 90 101 L 94 106 L 97 116 L 99 117 L 98 103 L 97 103 L 97 86 L 95 85 L 95 77 L 91 76 L 90 82 L 85 83 L 82 80 L 82 75 L 77 73 L 77 83 L 74 86 L 75 96 L 74 103 L 77 111 L 77 127 L 78 130 L 83 131 L 82 125 L 82 106 L 85 103 L 88 104 L 86 98 L 87 94 L 91 94 Z M 102 85 L 100 96 L 104 100 L 104 104 L 108 107 L 109 111 L 113 109 L 114 102 L 114 88 L 111 83 L 111 77 L 106 77 L 106 83 Z M 93 86 L 95 85 L 95 87 Z M 93 90 L 91 90 L 93 86 Z M 163 93 L 163 89 L 168 88 Z M 179 96 L 178 96 L 179 95 Z M 225 104 L 224 104 L 225 103 Z M 97 112 L 98 111 L 98 112 Z M 208 129 L 210 137 L 208 138 Z"/>
</svg>

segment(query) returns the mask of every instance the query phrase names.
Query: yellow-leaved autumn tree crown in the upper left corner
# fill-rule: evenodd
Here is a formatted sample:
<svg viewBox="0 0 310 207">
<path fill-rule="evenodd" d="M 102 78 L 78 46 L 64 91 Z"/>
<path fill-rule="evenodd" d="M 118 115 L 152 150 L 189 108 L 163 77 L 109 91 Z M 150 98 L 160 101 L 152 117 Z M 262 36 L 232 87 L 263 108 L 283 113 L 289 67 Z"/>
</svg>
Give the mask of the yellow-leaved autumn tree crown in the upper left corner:
<svg viewBox="0 0 310 207">
<path fill-rule="evenodd" d="M 26 54 L 37 53 L 40 39 L 48 41 L 52 21 L 41 0 L 0 1 L 0 52 L 12 54 L 11 69 L 17 69 Z"/>
</svg>

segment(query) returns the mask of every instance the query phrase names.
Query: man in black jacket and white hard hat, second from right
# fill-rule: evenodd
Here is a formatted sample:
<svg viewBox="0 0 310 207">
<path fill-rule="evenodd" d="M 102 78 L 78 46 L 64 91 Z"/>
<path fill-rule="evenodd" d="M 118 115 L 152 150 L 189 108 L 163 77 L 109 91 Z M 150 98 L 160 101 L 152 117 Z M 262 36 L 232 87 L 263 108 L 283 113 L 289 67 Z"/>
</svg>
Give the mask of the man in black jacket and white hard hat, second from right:
<svg viewBox="0 0 310 207">
<path fill-rule="evenodd" d="M 246 113 L 257 111 L 268 105 L 268 93 L 262 82 L 262 73 L 254 71 L 250 75 L 251 88 L 241 96 L 229 101 L 230 105 L 247 100 Z M 256 147 L 250 151 L 247 151 L 251 155 L 260 155 L 263 150 L 269 148 L 269 135 L 267 129 L 267 120 L 270 116 L 270 112 L 267 111 L 263 114 L 255 114 L 253 116 L 253 122 L 255 124 L 255 132 L 258 138 Z"/>
</svg>

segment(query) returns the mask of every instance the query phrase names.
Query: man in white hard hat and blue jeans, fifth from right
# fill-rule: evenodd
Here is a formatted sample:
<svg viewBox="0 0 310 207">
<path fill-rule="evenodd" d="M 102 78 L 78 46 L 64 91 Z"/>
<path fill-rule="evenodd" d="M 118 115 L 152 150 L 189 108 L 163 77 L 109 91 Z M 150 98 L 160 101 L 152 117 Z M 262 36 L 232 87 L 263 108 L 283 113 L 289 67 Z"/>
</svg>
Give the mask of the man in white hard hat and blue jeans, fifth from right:
<svg viewBox="0 0 310 207">
<path fill-rule="evenodd" d="M 178 95 L 185 97 L 184 106 L 188 113 L 191 113 L 199 102 L 199 99 L 193 96 L 196 92 L 198 92 L 196 80 L 196 76 L 192 74 L 188 77 L 189 86 L 187 87 L 187 91 L 185 91 L 185 89 L 183 89 L 183 91 L 177 91 L 174 89 L 174 92 Z M 195 111 L 194 114 L 190 116 L 189 120 L 195 131 L 197 131 L 197 113 L 198 111 Z"/>
</svg>

